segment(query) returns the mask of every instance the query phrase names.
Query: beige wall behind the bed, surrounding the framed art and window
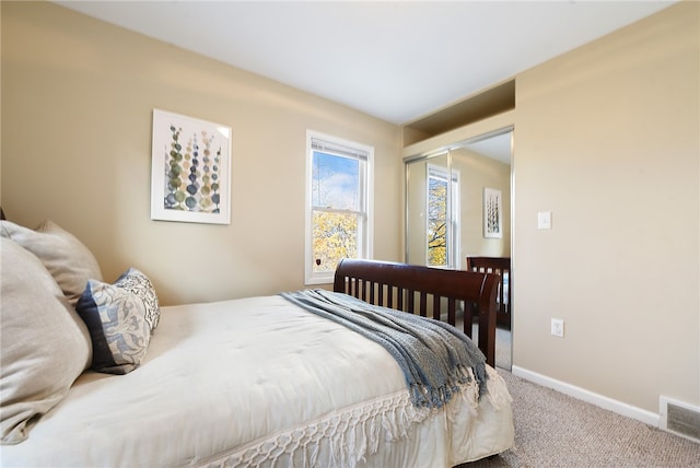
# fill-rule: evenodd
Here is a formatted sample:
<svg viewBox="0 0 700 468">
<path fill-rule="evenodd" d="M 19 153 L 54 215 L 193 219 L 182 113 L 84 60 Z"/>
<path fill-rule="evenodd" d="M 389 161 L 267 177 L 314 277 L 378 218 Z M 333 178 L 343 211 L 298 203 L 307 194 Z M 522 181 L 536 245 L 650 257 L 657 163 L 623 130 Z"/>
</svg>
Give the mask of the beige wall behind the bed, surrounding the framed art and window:
<svg viewBox="0 0 700 468">
<path fill-rule="evenodd" d="M 313 72 L 313 71 L 310 71 Z M 151 115 L 232 127 L 232 221 L 151 221 Z M 44 2 L 2 2 L 2 207 L 51 218 L 168 303 L 303 286 L 306 129 L 375 149 L 376 258 L 399 260 L 399 128 Z"/>
</svg>

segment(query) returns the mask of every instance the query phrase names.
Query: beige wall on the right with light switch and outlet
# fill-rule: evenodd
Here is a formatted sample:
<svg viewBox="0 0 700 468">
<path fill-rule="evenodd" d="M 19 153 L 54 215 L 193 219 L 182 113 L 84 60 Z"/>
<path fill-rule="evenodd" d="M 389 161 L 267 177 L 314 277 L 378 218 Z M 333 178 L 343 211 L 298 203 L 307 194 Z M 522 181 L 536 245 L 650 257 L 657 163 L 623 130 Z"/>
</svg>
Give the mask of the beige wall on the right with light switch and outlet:
<svg viewBox="0 0 700 468">
<path fill-rule="evenodd" d="M 513 364 L 652 412 L 700 405 L 699 9 L 516 78 Z"/>
</svg>

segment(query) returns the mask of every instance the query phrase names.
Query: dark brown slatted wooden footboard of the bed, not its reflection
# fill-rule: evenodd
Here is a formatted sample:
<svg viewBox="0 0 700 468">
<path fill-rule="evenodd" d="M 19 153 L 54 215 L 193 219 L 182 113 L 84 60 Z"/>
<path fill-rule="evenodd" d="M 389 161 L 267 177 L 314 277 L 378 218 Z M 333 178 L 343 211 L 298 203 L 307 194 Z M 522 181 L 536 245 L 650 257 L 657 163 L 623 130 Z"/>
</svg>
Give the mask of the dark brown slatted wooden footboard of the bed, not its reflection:
<svg viewBox="0 0 700 468">
<path fill-rule="evenodd" d="M 478 346 L 495 365 L 495 295 L 499 276 L 443 270 L 417 265 L 343 259 L 336 269 L 334 291 L 371 304 L 419 314 L 455 325 L 464 312 L 464 332 L 471 337 L 478 315 Z"/>
</svg>

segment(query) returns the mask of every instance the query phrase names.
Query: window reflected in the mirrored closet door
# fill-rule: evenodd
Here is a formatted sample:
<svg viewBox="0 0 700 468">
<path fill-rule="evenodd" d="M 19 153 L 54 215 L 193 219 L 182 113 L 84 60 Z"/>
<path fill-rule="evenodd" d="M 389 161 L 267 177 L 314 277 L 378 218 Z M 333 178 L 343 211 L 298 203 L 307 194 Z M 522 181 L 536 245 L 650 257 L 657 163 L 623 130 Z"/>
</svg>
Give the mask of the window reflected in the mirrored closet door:
<svg viewBox="0 0 700 468">
<path fill-rule="evenodd" d="M 459 251 L 459 173 L 433 164 L 428 165 L 428 265 L 456 268 Z"/>
</svg>

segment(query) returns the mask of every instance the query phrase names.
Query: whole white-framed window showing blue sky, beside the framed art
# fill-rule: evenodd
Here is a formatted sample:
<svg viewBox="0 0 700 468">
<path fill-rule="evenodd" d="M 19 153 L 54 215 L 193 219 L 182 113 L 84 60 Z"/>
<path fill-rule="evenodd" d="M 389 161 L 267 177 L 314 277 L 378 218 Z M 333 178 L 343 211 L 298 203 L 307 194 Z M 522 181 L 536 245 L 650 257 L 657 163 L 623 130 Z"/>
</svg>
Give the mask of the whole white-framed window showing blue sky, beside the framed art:
<svg viewBox="0 0 700 468">
<path fill-rule="evenodd" d="M 342 258 L 372 256 L 374 150 L 306 132 L 306 284 L 332 282 Z"/>
</svg>

